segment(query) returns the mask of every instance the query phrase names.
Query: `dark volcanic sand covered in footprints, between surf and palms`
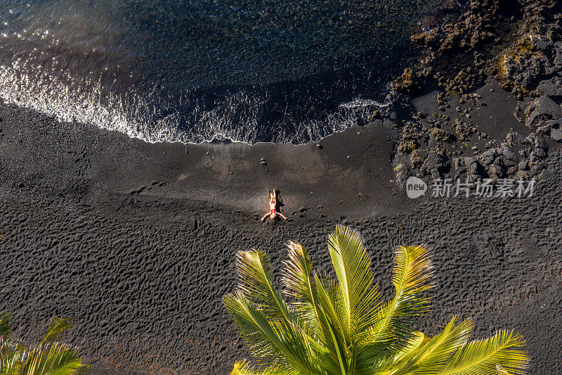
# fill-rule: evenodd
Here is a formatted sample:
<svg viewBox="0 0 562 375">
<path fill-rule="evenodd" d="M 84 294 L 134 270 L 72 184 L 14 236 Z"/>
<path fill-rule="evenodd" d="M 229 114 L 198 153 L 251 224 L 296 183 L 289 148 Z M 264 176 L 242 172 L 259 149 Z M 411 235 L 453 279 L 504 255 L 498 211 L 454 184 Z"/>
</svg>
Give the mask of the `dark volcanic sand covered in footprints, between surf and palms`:
<svg viewBox="0 0 562 375">
<path fill-rule="evenodd" d="M 410 201 L 391 182 L 388 124 L 334 134 L 322 148 L 185 146 L 13 106 L 0 118 L 0 310 L 15 314 L 20 338 L 74 317 L 71 342 L 95 374 L 227 374 L 247 357 L 221 304 L 235 288 L 236 251 L 265 250 L 279 267 L 293 239 L 330 269 L 325 241 L 337 222 L 365 235 L 387 298 L 393 248 L 433 247 L 435 298 L 421 331 L 435 334 L 456 313 L 475 320 L 474 338 L 513 328 L 528 343 L 529 374 L 562 373 L 559 148 L 532 198 Z M 256 220 L 273 186 L 292 221 Z"/>
</svg>

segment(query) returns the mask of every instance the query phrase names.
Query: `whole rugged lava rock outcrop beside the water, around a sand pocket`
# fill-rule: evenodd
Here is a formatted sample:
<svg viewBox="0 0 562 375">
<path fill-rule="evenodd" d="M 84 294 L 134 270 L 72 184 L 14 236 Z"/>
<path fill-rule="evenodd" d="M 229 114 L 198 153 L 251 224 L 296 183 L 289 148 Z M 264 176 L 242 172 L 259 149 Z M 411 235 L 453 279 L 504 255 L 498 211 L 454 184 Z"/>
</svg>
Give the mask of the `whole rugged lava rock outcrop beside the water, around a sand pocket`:
<svg viewBox="0 0 562 375">
<path fill-rule="evenodd" d="M 442 89 L 435 96 L 439 112 L 403 124 L 397 158 L 433 179 L 541 178 L 547 139 L 562 142 L 562 1 L 471 0 L 463 11 L 443 14 L 444 22 L 412 35 L 417 63 L 393 82 L 405 94 Z M 473 109 L 487 106 L 473 89 L 490 78 L 521 100 L 514 117 L 528 133 L 489 139 L 473 122 Z"/>
</svg>

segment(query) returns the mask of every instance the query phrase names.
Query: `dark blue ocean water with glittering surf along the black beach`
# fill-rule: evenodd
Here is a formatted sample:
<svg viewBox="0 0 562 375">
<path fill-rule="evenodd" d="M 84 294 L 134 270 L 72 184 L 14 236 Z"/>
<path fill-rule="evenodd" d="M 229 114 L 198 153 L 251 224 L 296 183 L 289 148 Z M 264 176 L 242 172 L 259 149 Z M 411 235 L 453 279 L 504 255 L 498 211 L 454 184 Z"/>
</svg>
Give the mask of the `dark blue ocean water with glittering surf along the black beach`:
<svg viewBox="0 0 562 375">
<path fill-rule="evenodd" d="M 365 122 L 438 0 L 0 0 L 0 98 L 146 141 Z"/>
</svg>

